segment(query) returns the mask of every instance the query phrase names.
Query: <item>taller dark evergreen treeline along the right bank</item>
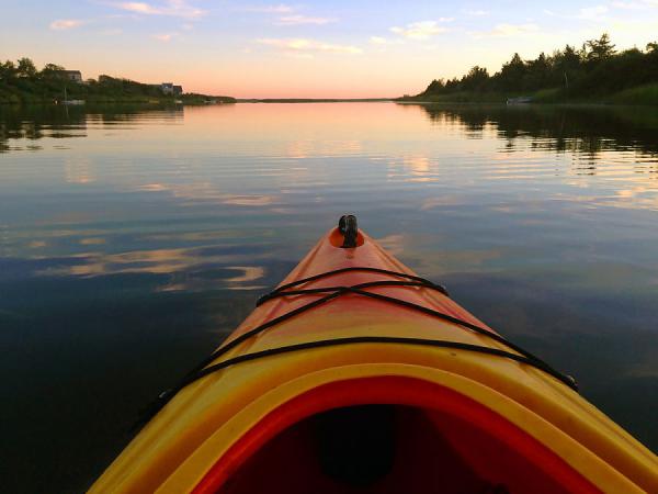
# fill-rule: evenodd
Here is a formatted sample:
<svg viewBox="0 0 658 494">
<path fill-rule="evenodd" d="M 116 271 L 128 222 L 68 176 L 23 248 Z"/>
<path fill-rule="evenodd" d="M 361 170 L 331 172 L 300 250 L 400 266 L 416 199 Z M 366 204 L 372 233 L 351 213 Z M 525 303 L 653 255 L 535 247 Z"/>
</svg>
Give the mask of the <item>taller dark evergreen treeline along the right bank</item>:
<svg viewBox="0 0 658 494">
<path fill-rule="evenodd" d="M 576 48 L 566 45 L 552 55 L 533 60 L 514 54 L 502 68 L 489 75 L 475 66 L 462 78 L 435 79 L 420 97 L 460 92 L 519 96 L 554 89 L 561 96 L 597 97 L 658 83 L 658 43 L 617 52 L 608 34 Z"/>
</svg>

